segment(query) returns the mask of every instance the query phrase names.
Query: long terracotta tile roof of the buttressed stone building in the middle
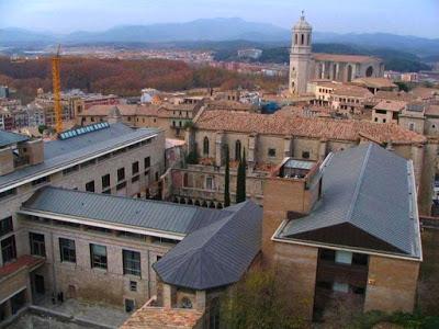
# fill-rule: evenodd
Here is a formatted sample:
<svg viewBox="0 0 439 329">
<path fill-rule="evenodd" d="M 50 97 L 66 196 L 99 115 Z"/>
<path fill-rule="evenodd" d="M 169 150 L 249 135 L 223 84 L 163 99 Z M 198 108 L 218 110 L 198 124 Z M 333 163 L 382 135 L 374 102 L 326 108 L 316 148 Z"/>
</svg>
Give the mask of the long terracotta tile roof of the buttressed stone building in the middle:
<svg viewBox="0 0 439 329">
<path fill-rule="evenodd" d="M 199 129 L 292 135 L 308 138 L 357 141 L 361 136 L 374 136 L 394 144 L 424 143 L 426 138 L 396 124 L 365 121 L 293 117 L 257 113 L 204 111 L 195 123 Z"/>
</svg>

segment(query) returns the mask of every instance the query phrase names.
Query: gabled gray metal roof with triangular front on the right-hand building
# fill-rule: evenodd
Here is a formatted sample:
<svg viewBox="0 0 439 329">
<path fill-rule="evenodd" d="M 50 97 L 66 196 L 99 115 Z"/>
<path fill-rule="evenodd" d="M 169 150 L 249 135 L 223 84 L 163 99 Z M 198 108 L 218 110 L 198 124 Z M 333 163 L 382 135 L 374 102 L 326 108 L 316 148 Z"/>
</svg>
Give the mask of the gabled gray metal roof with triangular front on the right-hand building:
<svg viewBox="0 0 439 329">
<path fill-rule="evenodd" d="M 349 224 L 402 254 L 420 257 L 412 164 L 375 144 L 336 152 L 323 175 L 323 198 L 312 213 L 291 220 L 280 238 Z M 349 246 L 348 246 L 349 247 Z"/>
</svg>

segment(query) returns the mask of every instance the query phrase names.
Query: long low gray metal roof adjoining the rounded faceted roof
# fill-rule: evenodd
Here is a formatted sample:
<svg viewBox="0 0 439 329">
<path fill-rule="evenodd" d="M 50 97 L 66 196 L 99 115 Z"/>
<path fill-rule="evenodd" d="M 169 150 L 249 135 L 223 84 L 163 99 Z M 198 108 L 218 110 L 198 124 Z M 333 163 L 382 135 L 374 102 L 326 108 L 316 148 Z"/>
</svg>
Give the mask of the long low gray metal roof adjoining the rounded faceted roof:
<svg viewBox="0 0 439 329">
<path fill-rule="evenodd" d="M 35 192 L 21 211 L 184 235 L 227 215 L 217 209 L 53 186 Z"/>
</svg>

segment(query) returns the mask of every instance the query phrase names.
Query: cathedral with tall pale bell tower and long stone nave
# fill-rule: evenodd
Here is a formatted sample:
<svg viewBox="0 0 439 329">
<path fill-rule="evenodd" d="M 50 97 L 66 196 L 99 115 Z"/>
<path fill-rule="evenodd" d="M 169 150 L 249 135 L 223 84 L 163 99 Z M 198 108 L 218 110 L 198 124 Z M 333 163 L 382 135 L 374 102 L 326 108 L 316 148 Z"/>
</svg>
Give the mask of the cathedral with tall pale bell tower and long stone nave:
<svg viewBox="0 0 439 329">
<path fill-rule="evenodd" d="M 379 78 L 384 75 L 384 64 L 380 58 L 357 55 L 313 54 L 313 27 L 302 12 L 293 26 L 290 53 L 291 94 L 306 92 L 312 80 L 350 82 L 357 78 Z"/>
</svg>

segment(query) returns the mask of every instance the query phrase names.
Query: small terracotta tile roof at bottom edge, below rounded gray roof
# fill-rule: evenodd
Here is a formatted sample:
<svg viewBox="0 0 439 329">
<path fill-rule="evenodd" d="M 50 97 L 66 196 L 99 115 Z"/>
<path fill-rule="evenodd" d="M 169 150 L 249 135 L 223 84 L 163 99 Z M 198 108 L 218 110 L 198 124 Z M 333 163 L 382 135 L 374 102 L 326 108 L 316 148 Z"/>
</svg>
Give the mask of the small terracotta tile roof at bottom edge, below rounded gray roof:
<svg viewBox="0 0 439 329">
<path fill-rule="evenodd" d="M 120 329 L 189 329 L 196 326 L 203 313 L 185 308 L 143 306 Z"/>
</svg>

